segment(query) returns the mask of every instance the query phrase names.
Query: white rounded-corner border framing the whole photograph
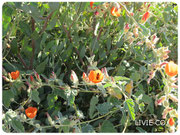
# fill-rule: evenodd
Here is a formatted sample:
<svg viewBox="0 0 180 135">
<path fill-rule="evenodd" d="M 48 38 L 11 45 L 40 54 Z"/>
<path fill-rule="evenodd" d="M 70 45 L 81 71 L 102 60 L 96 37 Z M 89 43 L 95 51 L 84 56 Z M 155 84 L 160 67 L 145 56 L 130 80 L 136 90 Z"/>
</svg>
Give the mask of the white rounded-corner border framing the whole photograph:
<svg viewBox="0 0 180 135">
<path fill-rule="evenodd" d="M 24 1 L 27 1 L 27 0 L 24 0 Z M 57 1 L 57 0 L 53 0 L 53 1 L 47 1 L 47 0 L 28 0 L 27 2 L 91 2 L 90 0 L 61 0 L 61 1 Z M 93 0 L 92 0 L 93 1 Z M 123 0 L 94 0 L 94 2 L 117 2 L 117 1 L 123 1 Z M 5 133 L 3 130 L 2 130 L 2 6 L 3 6 L 3 3 L 4 2 L 23 2 L 22 0 L 0 0 L 0 26 L 1 26 L 1 31 L 0 31 L 0 35 L 1 35 L 1 38 L 0 38 L 0 59 L 1 59 L 1 64 L 0 64 L 0 67 L 1 67 L 1 72 L 0 72 L 0 87 L 1 87 L 1 93 L 0 93 L 0 110 L 1 110 L 1 115 L 0 115 L 0 134 L 7 134 L 7 135 L 18 135 L 18 134 L 28 134 L 28 133 Z M 179 7 L 179 3 L 180 1 L 178 0 L 127 0 L 127 1 L 123 1 L 123 2 L 175 2 L 178 4 L 178 26 L 179 26 L 179 22 L 180 22 L 180 7 Z M 179 27 L 178 27 L 178 52 L 180 51 L 180 46 L 179 46 L 179 40 L 180 40 L 180 33 L 179 33 Z M 180 53 L 178 53 L 178 64 L 180 64 Z M 179 68 L 180 69 L 180 68 Z M 178 70 L 179 70 L 178 69 Z M 180 73 L 180 72 L 179 72 Z M 178 74 L 179 74 L 178 73 Z M 178 82 L 180 82 L 180 77 L 178 78 Z M 180 95 L 180 89 L 179 89 L 179 85 L 178 85 L 178 96 Z M 179 99 L 179 97 L 178 97 Z M 180 103 L 178 102 L 178 105 L 180 106 Z M 180 107 L 178 107 L 178 115 L 180 116 Z M 180 118 L 178 118 L 178 126 L 180 125 Z M 34 134 L 34 133 L 33 133 Z M 40 133 L 42 135 L 44 134 L 59 134 L 59 133 Z M 71 133 L 63 133 L 63 134 L 71 134 Z M 76 133 L 77 134 L 77 133 Z M 97 134 L 97 133 L 78 133 L 78 134 L 86 134 L 86 135 L 92 135 L 92 134 Z M 107 135 L 107 133 L 98 133 L 98 134 L 102 134 L 102 135 Z M 109 135 L 112 134 L 112 133 L 108 133 Z M 114 134 L 122 134 L 122 133 L 114 133 Z M 127 135 L 128 134 L 139 134 L 139 133 L 126 133 Z M 175 133 L 141 133 L 141 134 L 153 134 L 153 135 L 158 135 L 158 134 L 165 134 L 165 135 L 180 135 L 180 129 L 178 129 L 177 132 Z"/>
</svg>

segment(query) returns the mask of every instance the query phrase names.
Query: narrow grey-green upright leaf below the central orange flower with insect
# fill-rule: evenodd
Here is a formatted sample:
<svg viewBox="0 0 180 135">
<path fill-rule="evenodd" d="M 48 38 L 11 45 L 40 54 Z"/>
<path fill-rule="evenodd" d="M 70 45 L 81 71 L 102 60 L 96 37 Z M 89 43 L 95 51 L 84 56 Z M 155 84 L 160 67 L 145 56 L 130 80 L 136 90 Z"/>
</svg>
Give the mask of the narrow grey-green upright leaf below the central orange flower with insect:
<svg viewBox="0 0 180 135">
<path fill-rule="evenodd" d="M 93 114 L 94 114 L 94 111 L 95 111 L 95 106 L 96 106 L 96 104 L 98 103 L 98 97 L 96 97 L 96 96 L 93 96 L 92 98 L 91 98 L 91 101 L 90 101 L 90 108 L 89 108 L 89 116 L 90 116 L 90 118 L 91 119 L 93 119 Z"/>
</svg>

